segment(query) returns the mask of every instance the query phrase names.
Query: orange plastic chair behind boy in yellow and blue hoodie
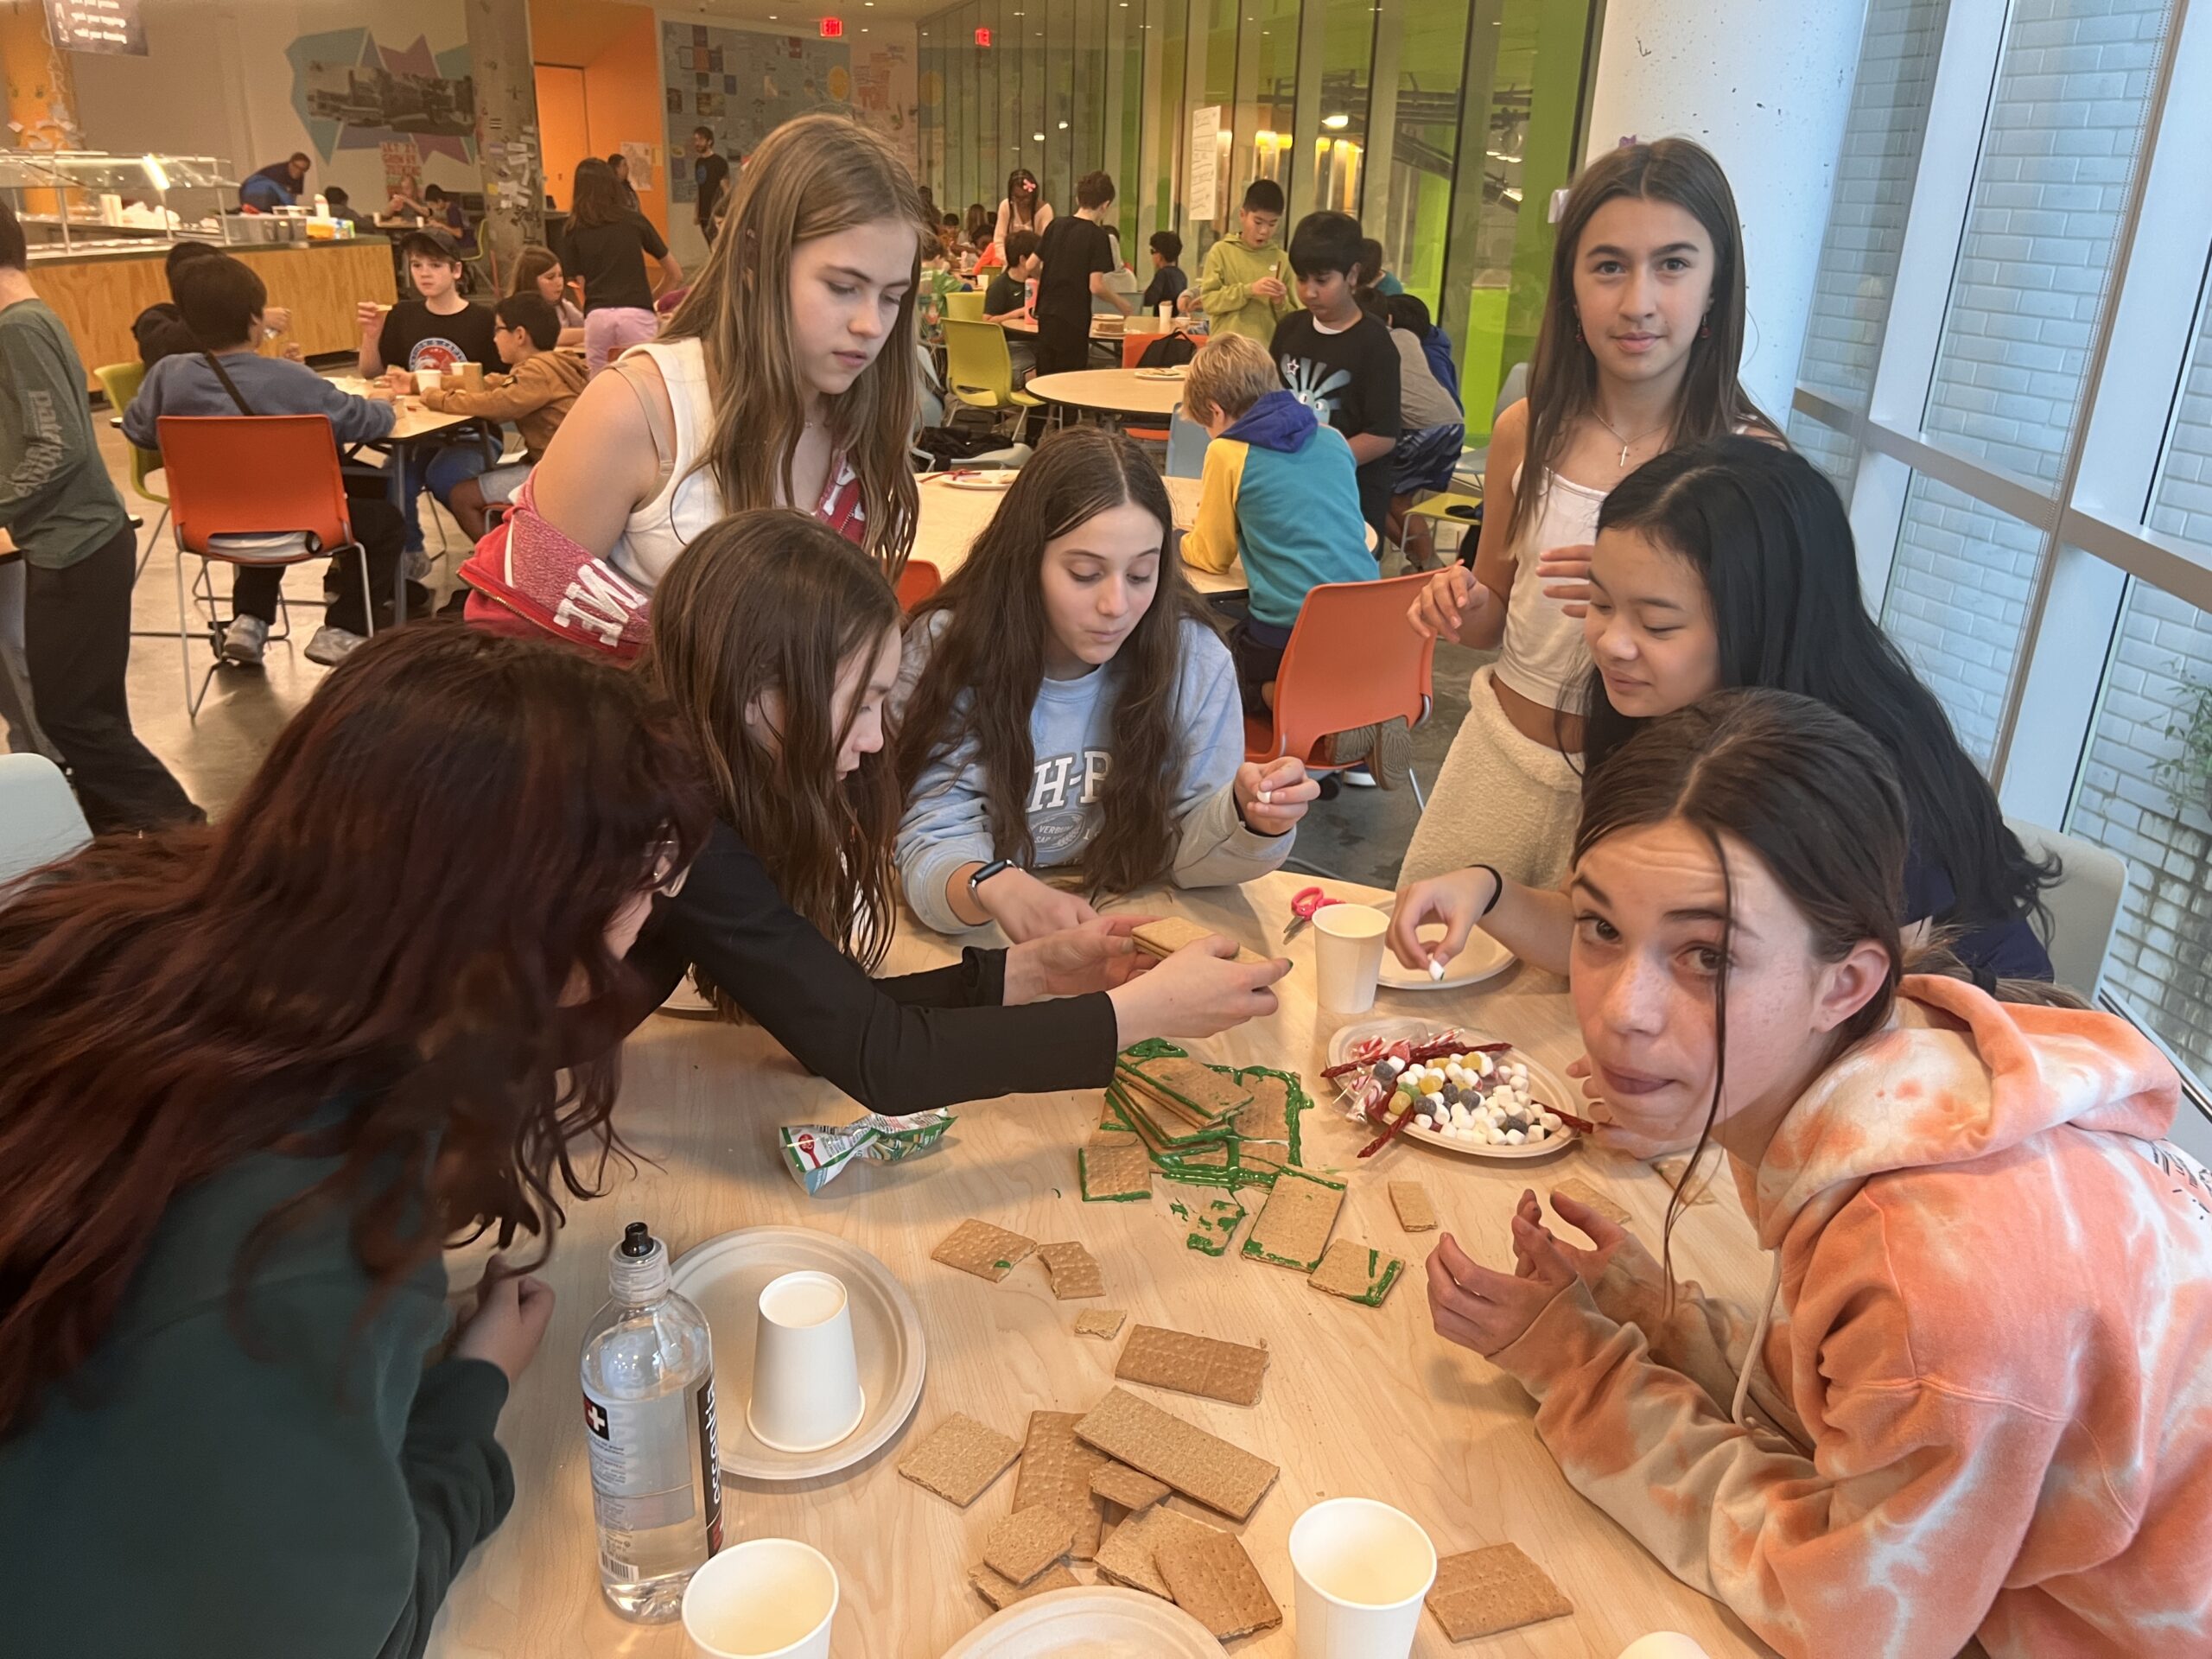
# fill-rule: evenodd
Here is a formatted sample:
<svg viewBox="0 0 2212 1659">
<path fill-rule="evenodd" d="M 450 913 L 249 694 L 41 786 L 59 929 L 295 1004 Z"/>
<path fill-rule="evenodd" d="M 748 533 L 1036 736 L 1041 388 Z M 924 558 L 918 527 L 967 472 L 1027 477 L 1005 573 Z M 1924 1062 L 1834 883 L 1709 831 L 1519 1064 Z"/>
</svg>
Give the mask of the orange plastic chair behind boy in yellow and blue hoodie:
<svg viewBox="0 0 2212 1659">
<path fill-rule="evenodd" d="M 1329 737 L 1358 726 L 1429 719 L 1436 641 L 1405 613 L 1429 584 L 1425 571 L 1376 582 L 1325 582 L 1305 595 L 1274 679 L 1274 723 L 1245 719 L 1245 759 L 1296 754 L 1307 772 L 1334 772 Z M 1413 801 L 1422 801 L 1420 781 Z"/>
</svg>

